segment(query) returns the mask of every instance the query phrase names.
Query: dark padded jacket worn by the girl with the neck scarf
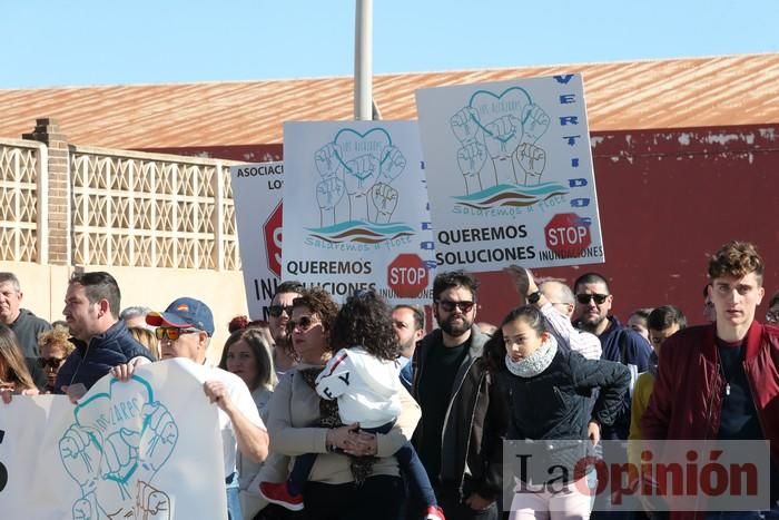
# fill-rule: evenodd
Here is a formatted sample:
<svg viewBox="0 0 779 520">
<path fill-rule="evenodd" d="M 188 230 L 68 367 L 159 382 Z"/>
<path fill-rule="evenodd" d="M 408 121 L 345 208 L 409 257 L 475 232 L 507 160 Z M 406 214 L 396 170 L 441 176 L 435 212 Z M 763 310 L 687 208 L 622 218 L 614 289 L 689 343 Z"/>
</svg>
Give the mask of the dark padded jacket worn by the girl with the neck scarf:
<svg viewBox="0 0 779 520">
<path fill-rule="evenodd" d="M 505 370 L 499 379 L 509 392 L 511 408 L 506 438 L 549 441 L 526 448 L 526 453 L 542 455 L 542 471 L 534 474 L 549 478 L 545 470 L 551 464 L 563 465 L 573 475 L 575 463 L 590 454 L 586 429 L 591 419 L 601 426 L 614 423 L 624 405 L 630 371 L 618 362 L 586 360 L 578 352 L 558 350 L 538 375 L 520 377 Z M 593 408 L 594 389 L 600 391 Z"/>
</svg>

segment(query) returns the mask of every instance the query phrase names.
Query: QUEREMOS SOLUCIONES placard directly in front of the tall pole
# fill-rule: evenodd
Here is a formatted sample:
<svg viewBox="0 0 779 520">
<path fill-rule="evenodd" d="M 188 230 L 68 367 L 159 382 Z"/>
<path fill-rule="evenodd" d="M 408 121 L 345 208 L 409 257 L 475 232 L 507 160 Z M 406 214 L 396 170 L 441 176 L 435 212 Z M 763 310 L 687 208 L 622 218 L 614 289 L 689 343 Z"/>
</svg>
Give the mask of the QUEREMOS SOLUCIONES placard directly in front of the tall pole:
<svg viewBox="0 0 779 520">
<path fill-rule="evenodd" d="M 416 122 L 287 122 L 282 276 L 336 300 L 432 296 L 433 237 Z"/>
</svg>

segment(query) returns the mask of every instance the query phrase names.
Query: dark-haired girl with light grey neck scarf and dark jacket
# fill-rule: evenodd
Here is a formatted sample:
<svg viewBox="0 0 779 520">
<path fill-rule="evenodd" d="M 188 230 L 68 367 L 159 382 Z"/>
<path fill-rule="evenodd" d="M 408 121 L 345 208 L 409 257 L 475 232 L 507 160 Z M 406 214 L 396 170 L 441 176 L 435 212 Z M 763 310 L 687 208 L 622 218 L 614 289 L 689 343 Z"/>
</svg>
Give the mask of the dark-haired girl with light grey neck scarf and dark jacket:
<svg viewBox="0 0 779 520">
<path fill-rule="evenodd" d="M 541 312 L 525 305 L 509 313 L 484 347 L 509 394 L 506 439 L 529 441 L 513 443 L 517 455 L 530 457 L 515 458 L 512 520 L 590 518 L 588 475 L 574 474 L 574 467 L 600 441 L 600 426 L 613 422 L 630 383 L 621 363 L 558 346 Z"/>
</svg>

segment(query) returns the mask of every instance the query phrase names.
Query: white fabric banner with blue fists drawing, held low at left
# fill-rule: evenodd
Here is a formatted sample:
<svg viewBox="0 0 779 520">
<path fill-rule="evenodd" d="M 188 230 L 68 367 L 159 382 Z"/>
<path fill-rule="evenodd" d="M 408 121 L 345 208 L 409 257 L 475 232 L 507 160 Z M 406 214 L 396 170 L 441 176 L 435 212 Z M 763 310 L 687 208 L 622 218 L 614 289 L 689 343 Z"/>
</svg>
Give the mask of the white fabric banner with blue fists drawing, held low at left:
<svg viewBox="0 0 779 520">
<path fill-rule="evenodd" d="M 126 383 L 108 375 L 76 406 L 62 395 L 0 403 L 0 516 L 226 519 L 217 409 L 201 370 L 170 360 Z"/>
</svg>

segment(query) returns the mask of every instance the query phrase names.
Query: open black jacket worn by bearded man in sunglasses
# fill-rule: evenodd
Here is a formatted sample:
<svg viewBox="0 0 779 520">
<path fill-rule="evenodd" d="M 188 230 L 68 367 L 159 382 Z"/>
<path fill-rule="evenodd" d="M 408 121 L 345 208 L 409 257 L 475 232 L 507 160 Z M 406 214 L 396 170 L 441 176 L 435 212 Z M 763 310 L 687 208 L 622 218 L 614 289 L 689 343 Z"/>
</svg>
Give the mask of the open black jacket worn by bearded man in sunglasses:
<svg viewBox="0 0 779 520">
<path fill-rule="evenodd" d="M 481 357 L 489 339 L 479 327 L 471 328 L 471 346 L 454 377 L 443 434 L 440 431 L 424 432 L 421 425 L 414 432 L 415 445 L 420 445 L 422 435 L 442 438 L 438 480 L 446 487 L 455 487 L 461 498 L 466 464 L 473 491 L 493 499 L 501 493 L 502 443 L 507 426 L 507 410 L 505 394 L 497 395 L 493 377 Z M 427 354 L 434 344 L 442 342 L 442 332 L 436 330 L 423 337 L 414 351 L 412 394 L 417 401 Z"/>
</svg>

